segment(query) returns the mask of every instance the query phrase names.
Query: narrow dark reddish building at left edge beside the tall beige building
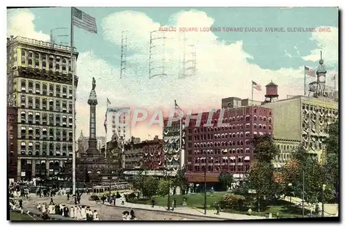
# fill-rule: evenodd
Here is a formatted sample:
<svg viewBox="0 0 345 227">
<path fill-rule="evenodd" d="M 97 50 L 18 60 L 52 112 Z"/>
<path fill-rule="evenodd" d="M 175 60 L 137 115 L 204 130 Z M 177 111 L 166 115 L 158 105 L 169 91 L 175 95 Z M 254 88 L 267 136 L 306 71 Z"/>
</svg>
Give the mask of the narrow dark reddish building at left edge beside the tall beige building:
<svg viewBox="0 0 345 227">
<path fill-rule="evenodd" d="M 7 155 L 8 155 L 8 179 L 17 180 L 17 108 L 9 106 L 7 109 Z"/>
</svg>

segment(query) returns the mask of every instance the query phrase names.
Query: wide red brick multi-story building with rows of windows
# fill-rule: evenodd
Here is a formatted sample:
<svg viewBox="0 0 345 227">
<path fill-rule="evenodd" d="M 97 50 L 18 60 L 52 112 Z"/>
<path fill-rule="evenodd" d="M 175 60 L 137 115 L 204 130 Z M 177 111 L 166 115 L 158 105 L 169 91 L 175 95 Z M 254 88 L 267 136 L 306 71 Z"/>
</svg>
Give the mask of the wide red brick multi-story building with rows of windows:
<svg viewBox="0 0 345 227">
<path fill-rule="evenodd" d="M 208 115 L 213 114 L 208 121 Z M 217 182 L 221 172 L 233 173 L 235 178 L 242 177 L 250 168 L 253 159 L 253 145 L 250 140 L 255 136 L 273 133 L 273 111 L 267 107 L 246 106 L 224 109 L 222 123 L 218 127 L 220 109 L 203 113 L 199 127 L 196 120 L 190 120 L 186 127 L 186 179 L 188 182 Z M 206 127 L 206 123 L 213 125 Z"/>
</svg>

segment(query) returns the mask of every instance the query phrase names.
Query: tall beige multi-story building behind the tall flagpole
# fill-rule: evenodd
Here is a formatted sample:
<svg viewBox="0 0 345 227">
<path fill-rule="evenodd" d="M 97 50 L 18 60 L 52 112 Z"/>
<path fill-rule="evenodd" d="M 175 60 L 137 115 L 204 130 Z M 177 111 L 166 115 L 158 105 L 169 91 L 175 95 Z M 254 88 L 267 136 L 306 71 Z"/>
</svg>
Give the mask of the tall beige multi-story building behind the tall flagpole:
<svg viewBox="0 0 345 227">
<path fill-rule="evenodd" d="M 18 109 L 17 180 L 53 175 L 72 158 L 70 47 L 11 36 L 7 51 L 8 96 Z"/>
</svg>

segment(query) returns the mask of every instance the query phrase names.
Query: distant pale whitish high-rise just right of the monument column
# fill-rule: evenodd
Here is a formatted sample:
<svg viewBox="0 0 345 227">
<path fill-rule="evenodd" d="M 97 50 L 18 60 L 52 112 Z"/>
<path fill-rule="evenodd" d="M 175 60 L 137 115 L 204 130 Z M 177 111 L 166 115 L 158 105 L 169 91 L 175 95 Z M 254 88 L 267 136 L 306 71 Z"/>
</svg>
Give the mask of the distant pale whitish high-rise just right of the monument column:
<svg viewBox="0 0 345 227">
<path fill-rule="evenodd" d="M 119 115 L 119 123 L 124 125 L 117 125 L 115 116 Z M 125 141 L 130 141 L 132 138 L 132 131 L 131 131 L 131 121 L 130 121 L 130 108 L 129 107 L 108 107 L 107 111 L 107 119 L 108 122 L 111 122 L 111 130 L 108 128 L 108 131 L 112 133 L 108 133 L 106 141 L 110 141 L 112 138 L 112 134 L 117 133 L 117 136 L 120 138 L 121 136 L 124 138 Z"/>
</svg>

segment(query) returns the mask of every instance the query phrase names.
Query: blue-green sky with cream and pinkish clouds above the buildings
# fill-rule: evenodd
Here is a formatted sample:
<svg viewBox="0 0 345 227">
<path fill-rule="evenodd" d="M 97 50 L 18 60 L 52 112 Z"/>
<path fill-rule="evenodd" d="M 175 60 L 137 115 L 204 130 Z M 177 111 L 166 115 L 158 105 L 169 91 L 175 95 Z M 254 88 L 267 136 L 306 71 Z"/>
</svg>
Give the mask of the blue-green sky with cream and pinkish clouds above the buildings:
<svg viewBox="0 0 345 227">
<path fill-rule="evenodd" d="M 264 100 L 264 86 L 273 80 L 279 99 L 304 93 L 304 65 L 316 68 L 322 50 L 326 81 L 338 68 L 337 8 L 79 8 L 95 17 L 97 34 L 74 29 L 77 60 L 77 136 L 88 135 L 88 96 L 92 77 L 97 81 L 97 136 L 104 136 L 106 98 L 115 107 L 172 109 L 174 100 L 184 109 L 219 109 L 221 98 L 251 98 L 252 82 L 262 85 L 255 100 Z M 26 36 L 69 45 L 70 8 L 28 8 L 8 10 L 7 36 Z M 161 27 L 176 28 L 165 33 L 165 45 L 155 39 L 152 67 L 164 65 L 166 76 L 149 79 L 150 32 Z M 194 32 L 179 29 L 197 28 Z M 206 32 L 207 28 L 213 31 Z M 253 28 L 230 32 L 223 28 Z M 284 28 L 268 32 L 266 28 Z M 293 28 L 314 28 L 315 32 L 288 32 Z M 319 30 L 319 28 L 326 28 Z M 262 32 L 255 32 L 262 29 Z M 127 37 L 126 77 L 120 78 L 121 34 Z M 161 33 L 156 32 L 157 38 Z M 196 73 L 179 78 L 181 59 L 192 59 L 194 45 Z M 185 47 L 185 48 L 184 48 Z M 185 54 L 184 54 L 185 52 Z M 162 60 L 165 59 L 165 60 Z M 161 69 L 156 69 L 161 73 Z M 155 71 L 154 71 L 155 73 Z M 315 78 L 307 78 L 310 83 Z M 149 115 L 150 117 L 150 115 Z M 139 125 L 132 135 L 161 138 L 159 127 Z"/>
</svg>

